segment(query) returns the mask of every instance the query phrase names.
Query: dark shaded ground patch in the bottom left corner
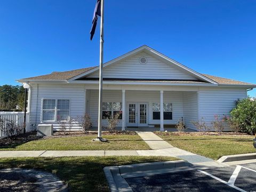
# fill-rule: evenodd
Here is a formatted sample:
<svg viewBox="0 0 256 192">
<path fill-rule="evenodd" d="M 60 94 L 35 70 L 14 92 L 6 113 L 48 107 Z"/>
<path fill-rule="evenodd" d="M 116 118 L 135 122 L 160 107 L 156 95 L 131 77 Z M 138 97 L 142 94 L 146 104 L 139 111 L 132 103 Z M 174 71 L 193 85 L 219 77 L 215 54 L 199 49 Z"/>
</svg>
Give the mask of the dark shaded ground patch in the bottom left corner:
<svg viewBox="0 0 256 192">
<path fill-rule="evenodd" d="M 37 179 L 33 174 L 21 174 L 17 172 L 7 172 L 0 175 L 0 191 L 39 191 L 35 184 Z"/>
</svg>

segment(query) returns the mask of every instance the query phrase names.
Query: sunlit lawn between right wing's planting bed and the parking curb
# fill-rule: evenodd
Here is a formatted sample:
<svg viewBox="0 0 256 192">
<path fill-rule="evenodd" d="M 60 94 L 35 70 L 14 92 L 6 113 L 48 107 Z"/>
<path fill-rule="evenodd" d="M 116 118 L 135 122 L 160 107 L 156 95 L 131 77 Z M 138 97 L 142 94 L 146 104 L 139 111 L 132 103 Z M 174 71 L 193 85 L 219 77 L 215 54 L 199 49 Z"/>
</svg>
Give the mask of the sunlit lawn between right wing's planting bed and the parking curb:
<svg viewBox="0 0 256 192">
<path fill-rule="evenodd" d="M 155 132 L 159 137 L 169 142 L 172 146 L 219 159 L 224 155 L 256 153 L 253 147 L 252 135 L 199 135 L 199 133 Z"/>
</svg>

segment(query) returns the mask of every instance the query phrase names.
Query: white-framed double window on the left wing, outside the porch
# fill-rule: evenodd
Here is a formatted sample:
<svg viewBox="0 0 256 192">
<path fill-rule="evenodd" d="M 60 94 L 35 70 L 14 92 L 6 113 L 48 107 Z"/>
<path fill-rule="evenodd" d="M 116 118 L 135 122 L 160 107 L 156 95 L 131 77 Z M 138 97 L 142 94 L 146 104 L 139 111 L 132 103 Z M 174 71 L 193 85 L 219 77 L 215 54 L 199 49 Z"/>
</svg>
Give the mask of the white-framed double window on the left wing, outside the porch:
<svg viewBox="0 0 256 192">
<path fill-rule="evenodd" d="M 43 99 L 42 121 L 69 121 L 69 99 Z"/>
</svg>

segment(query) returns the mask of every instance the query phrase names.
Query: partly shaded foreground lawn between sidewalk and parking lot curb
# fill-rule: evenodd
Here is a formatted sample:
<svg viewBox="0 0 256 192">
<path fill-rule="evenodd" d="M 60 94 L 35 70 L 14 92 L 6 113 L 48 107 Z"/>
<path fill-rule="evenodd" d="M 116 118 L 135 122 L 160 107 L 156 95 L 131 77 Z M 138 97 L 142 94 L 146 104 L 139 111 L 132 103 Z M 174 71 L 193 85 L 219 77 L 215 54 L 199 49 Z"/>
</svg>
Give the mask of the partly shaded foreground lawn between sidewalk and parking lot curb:
<svg viewBox="0 0 256 192">
<path fill-rule="evenodd" d="M 0 169 L 19 167 L 39 169 L 56 174 L 70 191 L 109 191 L 103 167 L 134 163 L 176 160 L 173 157 L 27 157 L 2 158 Z"/>
</svg>

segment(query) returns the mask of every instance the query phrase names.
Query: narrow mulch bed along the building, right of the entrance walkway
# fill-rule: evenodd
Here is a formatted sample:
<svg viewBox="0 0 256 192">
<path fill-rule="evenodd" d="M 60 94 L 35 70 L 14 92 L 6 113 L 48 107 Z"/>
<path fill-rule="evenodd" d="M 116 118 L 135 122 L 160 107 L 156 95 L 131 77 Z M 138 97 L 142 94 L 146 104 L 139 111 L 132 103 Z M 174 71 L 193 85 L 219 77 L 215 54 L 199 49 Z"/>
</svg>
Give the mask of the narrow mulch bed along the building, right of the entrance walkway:
<svg viewBox="0 0 256 192">
<path fill-rule="evenodd" d="M 202 136 L 202 135 L 219 135 L 216 132 L 159 132 L 159 131 L 155 131 L 154 133 L 158 134 L 158 135 L 163 135 L 163 136 L 168 136 L 168 135 L 174 135 L 174 136 L 182 136 L 182 135 L 186 135 L 186 136 Z M 222 132 L 221 133 L 222 136 L 248 136 L 251 137 L 252 135 L 246 134 L 246 133 L 233 133 L 233 132 Z M 219 136 L 221 136 L 219 135 Z"/>
</svg>

